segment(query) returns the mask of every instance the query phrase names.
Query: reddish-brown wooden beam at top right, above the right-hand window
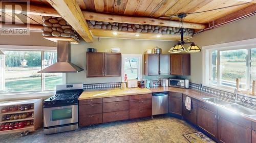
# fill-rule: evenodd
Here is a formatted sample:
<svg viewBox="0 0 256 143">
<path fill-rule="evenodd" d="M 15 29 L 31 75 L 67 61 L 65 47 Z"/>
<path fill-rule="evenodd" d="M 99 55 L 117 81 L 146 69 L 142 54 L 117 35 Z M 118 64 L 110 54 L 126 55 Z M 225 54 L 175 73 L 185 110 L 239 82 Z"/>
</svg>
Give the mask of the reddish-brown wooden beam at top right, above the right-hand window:
<svg viewBox="0 0 256 143">
<path fill-rule="evenodd" d="M 226 24 L 226 23 L 241 19 L 243 17 L 246 17 L 250 14 L 254 14 L 255 12 L 256 12 L 256 4 L 253 4 L 253 5 L 245 8 L 245 9 L 241 9 L 237 12 L 231 13 L 229 15 L 226 15 L 224 17 L 221 17 L 219 19 L 211 21 L 209 23 L 209 27 L 216 26 L 216 25 L 221 25 L 221 24 Z"/>
</svg>

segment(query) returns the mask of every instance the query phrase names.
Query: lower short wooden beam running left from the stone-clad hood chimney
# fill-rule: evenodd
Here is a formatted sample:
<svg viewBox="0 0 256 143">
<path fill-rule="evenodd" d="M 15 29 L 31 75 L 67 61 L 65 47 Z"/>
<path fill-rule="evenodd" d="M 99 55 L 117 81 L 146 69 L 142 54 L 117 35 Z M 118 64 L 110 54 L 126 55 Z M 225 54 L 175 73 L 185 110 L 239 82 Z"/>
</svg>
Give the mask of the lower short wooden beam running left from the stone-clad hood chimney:
<svg viewBox="0 0 256 143">
<path fill-rule="evenodd" d="M 2 29 L 16 29 L 16 30 L 28 30 L 28 31 L 42 31 L 42 25 L 39 24 L 12 24 L 12 23 L 0 23 Z"/>
</svg>

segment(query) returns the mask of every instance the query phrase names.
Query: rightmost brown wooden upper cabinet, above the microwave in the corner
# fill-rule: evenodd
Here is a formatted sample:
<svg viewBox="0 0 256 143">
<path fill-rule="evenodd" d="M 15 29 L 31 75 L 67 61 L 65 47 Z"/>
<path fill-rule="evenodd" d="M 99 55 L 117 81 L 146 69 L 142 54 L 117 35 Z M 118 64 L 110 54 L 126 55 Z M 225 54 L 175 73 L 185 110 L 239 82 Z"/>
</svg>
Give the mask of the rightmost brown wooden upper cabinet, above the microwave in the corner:
<svg viewBox="0 0 256 143">
<path fill-rule="evenodd" d="M 190 54 L 170 54 L 170 74 L 190 75 Z"/>
</svg>

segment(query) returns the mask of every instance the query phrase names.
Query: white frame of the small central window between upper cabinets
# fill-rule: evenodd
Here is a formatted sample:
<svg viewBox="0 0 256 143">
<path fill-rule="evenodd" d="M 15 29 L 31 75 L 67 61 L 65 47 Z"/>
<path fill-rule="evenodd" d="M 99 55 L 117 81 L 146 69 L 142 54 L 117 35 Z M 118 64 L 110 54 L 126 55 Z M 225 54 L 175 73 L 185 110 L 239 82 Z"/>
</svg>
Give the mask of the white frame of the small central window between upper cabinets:
<svg viewBox="0 0 256 143">
<path fill-rule="evenodd" d="M 122 54 L 122 65 L 121 65 L 121 81 L 124 82 L 124 60 L 125 58 L 138 58 L 139 59 L 139 66 L 137 70 L 138 74 L 138 81 L 142 78 L 142 54 Z"/>
</svg>

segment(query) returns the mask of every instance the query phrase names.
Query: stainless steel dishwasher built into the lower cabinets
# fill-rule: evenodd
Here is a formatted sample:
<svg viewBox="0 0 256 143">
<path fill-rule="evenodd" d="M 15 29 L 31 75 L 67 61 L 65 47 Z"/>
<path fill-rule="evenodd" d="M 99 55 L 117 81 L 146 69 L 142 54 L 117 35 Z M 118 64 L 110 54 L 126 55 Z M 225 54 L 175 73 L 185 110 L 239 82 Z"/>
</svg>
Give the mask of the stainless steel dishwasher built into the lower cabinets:
<svg viewBox="0 0 256 143">
<path fill-rule="evenodd" d="M 152 115 L 168 113 L 168 92 L 152 94 Z"/>
</svg>

